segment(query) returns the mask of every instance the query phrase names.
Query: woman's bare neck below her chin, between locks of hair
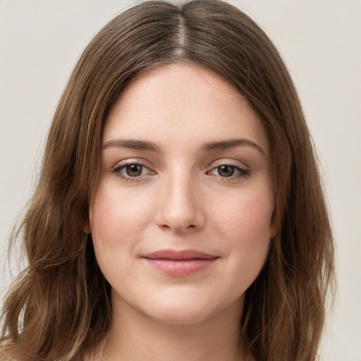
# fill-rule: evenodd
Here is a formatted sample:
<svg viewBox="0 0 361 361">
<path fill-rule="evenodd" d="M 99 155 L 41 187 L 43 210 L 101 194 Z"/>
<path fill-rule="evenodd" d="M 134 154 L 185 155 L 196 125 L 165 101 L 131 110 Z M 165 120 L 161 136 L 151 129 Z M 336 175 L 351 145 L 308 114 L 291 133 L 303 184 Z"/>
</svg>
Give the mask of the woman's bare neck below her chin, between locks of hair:
<svg viewBox="0 0 361 361">
<path fill-rule="evenodd" d="M 115 302 L 102 360 L 241 361 L 242 308 L 231 305 L 195 324 L 169 324 L 133 310 L 126 302 Z"/>
</svg>

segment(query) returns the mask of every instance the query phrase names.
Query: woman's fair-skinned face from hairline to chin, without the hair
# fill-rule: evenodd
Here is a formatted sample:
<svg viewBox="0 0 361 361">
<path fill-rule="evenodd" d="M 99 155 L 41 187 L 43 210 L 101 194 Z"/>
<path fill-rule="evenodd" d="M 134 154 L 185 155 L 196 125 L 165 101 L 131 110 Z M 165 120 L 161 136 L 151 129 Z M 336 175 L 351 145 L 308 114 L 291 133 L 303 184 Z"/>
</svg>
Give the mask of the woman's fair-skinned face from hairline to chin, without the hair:
<svg viewBox="0 0 361 361">
<path fill-rule="evenodd" d="M 116 310 L 191 324 L 242 312 L 269 252 L 267 135 L 223 78 L 161 66 L 112 106 L 90 204 L 97 262 Z"/>
</svg>

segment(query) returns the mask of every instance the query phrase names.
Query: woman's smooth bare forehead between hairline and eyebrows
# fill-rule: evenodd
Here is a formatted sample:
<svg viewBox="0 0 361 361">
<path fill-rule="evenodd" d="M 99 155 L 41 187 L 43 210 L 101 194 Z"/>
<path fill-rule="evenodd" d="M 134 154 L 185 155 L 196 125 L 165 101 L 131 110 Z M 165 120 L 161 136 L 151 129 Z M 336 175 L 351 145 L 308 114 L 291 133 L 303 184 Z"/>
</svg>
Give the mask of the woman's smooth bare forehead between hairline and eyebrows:
<svg viewBox="0 0 361 361">
<path fill-rule="evenodd" d="M 247 137 L 268 148 L 259 116 L 233 85 L 209 68 L 183 64 L 133 78 L 109 111 L 103 144 L 116 137 L 173 145 Z"/>
</svg>

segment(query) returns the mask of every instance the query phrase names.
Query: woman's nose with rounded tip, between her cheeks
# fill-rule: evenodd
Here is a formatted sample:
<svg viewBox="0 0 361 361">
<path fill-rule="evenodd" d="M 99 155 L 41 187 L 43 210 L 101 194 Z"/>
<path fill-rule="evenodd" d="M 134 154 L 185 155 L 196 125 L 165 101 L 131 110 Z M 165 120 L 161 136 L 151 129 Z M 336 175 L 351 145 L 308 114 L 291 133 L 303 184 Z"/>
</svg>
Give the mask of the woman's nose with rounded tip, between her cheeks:
<svg viewBox="0 0 361 361">
<path fill-rule="evenodd" d="M 195 182 L 187 176 L 169 176 L 161 184 L 156 224 L 176 233 L 189 233 L 204 226 L 205 215 Z"/>
</svg>

